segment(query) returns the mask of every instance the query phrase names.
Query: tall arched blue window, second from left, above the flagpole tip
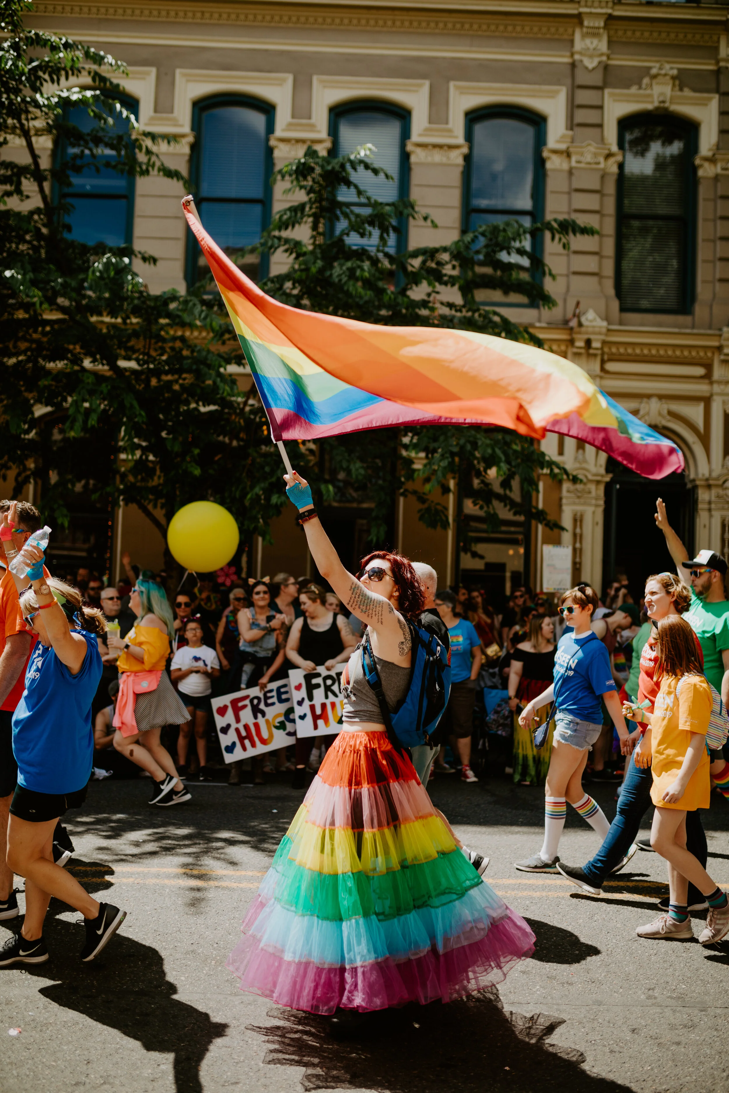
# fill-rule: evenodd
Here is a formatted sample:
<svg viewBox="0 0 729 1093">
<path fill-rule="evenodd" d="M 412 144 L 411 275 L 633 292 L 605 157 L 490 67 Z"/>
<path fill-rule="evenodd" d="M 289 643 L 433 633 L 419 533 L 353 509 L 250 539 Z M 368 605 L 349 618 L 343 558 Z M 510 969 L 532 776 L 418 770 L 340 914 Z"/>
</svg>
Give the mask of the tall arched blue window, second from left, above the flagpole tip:
<svg viewBox="0 0 729 1093">
<path fill-rule="evenodd" d="M 243 95 L 215 95 L 196 103 L 196 134 L 190 161 L 195 202 L 207 232 L 224 250 L 236 251 L 258 243 L 271 218 L 273 160 L 269 137 L 274 107 Z M 268 273 L 266 255 L 239 262 L 248 277 Z M 207 262 L 192 233 L 188 233 L 187 282 L 195 284 Z"/>
</svg>

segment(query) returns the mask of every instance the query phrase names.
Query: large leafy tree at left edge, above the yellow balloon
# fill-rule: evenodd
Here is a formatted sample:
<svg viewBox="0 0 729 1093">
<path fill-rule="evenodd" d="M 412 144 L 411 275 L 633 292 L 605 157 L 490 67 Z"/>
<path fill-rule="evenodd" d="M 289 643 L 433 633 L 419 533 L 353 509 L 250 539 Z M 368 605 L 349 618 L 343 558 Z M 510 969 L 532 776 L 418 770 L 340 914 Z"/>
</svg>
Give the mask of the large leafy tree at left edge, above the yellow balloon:
<svg viewBox="0 0 729 1093">
<path fill-rule="evenodd" d="M 10 0 L 0 23 L 0 474 L 15 474 L 15 494 L 35 481 L 51 525 L 81 489 L 103 508 L 139 506 L 163 537 L 205 497 L 244 542 L 266 534 L 285 502 L 280 461 L 220 302 L 154 294 L 132 268 L 154 258 L 69 234 L 81 174 L 185 186 L 163 156 L 176 141 L 119 104 L 121 62 L 27 28 L 28 10 Z"/>
</svg>

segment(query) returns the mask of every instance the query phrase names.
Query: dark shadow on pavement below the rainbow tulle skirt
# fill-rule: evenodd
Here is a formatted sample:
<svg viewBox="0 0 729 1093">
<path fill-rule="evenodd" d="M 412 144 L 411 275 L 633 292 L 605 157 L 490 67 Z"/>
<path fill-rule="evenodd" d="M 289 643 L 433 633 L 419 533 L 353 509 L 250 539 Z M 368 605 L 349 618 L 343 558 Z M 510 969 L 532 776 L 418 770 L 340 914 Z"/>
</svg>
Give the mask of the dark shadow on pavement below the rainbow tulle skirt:
<svg viewBox="0 0 729 1093">
<path fill-rule="evenodd" d="M 492 989 L 443 1006 L 317 1016 L 275 1008 L 282 1022 L 248 1026 L 269 1044 L 264 1062 L 305 1067 L 305 1090 L 377 1093 L 628 1093 L 581 1069 L 574 1048 L 546 1043 L 562 1018 L 506 1011 Z"/>
</svg>

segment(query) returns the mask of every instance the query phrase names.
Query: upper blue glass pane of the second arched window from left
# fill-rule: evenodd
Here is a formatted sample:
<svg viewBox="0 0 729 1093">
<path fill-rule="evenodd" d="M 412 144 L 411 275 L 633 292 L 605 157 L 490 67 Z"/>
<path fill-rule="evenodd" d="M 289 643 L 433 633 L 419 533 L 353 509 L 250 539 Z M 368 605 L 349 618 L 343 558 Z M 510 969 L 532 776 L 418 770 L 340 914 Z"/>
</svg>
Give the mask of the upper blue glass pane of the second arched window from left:
<svg viewBox="0 0 729 1093">
<path fill-rule="evenodd" d="M 264 114 L 247 106 L 205 110 L 200 140 L 201 198 L 262 199 L 267 183 Z"/>
</svg>

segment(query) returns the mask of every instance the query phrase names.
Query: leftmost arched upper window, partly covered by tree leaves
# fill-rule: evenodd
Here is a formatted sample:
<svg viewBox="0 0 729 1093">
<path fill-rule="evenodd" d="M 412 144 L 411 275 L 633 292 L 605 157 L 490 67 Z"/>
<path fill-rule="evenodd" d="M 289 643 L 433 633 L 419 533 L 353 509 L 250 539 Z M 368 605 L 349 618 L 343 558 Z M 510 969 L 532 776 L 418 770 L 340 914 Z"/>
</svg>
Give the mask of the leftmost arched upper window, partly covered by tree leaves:
<svg viewBox="0 0 729 1093">
<path fill-rule="evenodd" d="M 139 103 L 126 95 L 119 102 L 137 117 Z M 83 106 L 66 109 L 66 120 L 78 126 L 83 132 L 96 127 L 95 120 Z M 115 117 L 115 131 L 127 132 L 129 122 Z M 68 154 L 62 142 L 58 149 L 61 161 Z M 85 156 L 89 165 L 80 174 L 71 175 L 71 185 L 63 190 L 63 200 L 70 209 L 66 214 L 69 234 L 81 243 L 106 243 L 110 247 L 121 247 L 132 242 L 134 221 L 134 178 L 120 175 L 110 163 L 116 156 L 98 155 L 95 160 Z M 95 165 L 94 165 L 95 164 Z M 99 171 L 96 171 L 96 166 Z"/>
</svg>

